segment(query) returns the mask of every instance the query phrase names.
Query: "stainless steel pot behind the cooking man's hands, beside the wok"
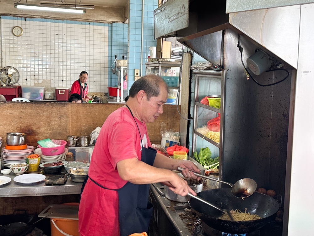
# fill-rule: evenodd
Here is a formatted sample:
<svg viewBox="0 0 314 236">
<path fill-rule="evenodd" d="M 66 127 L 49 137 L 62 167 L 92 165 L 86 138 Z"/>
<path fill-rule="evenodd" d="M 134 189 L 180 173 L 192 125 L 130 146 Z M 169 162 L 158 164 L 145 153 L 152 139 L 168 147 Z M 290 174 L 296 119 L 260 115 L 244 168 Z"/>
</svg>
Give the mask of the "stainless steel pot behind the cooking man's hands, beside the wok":
<svg viewBox="0 0 314 236">
<path fill-rule="evenodd" d="M 195 193 L 202 192 L 202 190 L 203 190 L 203 183 L 205 183 L 205 180 L 203 178 L 201 178 L 200 181 L 197 181 L 197 180 L 192 179 L 192 178 L 191 179 L 185 178 L 185 177 L 183 177 L 183 179 L 185 179 L 187 181 L 187 184 L 189 185 L 190 188 L 192 188 L 195 191 Z M 175 194 L 166 185 L 165 185 L 165 188 L 164 188 L 164 193 L 165 193 L 165 197 L 168 198 L 171 201 L 188 202 L 186 196 L 183 197 L 183 196 L 181 196 L 179 194 Z"/>
</svg>

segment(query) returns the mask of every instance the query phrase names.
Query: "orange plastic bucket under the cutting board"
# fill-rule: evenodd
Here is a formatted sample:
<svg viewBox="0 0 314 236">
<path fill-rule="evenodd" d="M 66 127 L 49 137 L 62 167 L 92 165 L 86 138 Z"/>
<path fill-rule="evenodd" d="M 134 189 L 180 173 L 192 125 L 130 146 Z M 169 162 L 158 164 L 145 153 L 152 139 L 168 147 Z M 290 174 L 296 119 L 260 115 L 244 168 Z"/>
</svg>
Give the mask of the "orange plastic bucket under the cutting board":
<svg viewBox="0 0 314 236">
<path fill-rule="evenodd" d="M 77 202 L 64 203 L 62 205 L 78 206 Z M 79 236 L 78 220 L 70 219 L 50 219 L 51 236 Z"/>
</svg>

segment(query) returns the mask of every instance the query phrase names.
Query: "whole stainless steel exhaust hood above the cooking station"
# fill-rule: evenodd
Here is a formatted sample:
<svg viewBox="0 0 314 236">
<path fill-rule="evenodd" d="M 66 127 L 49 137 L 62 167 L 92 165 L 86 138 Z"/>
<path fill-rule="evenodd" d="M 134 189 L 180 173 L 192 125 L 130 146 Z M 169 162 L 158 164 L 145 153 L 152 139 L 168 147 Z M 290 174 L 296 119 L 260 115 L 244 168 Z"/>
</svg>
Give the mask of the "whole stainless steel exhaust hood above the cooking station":
<svg viewBox="0 0 314 236">
<path fill-rule="evenodd" d="M 176 4 L 179 2 L 184 3 Z M 178 14 L 182 8 L 188 9 L 184 16 Z M 159 17 L 166 11 L 171 15 Z M 300 5 L 230 14 L 225 12 L 226 0 L 219 3 L 207 0 L 168 1 L 154 11 L 155 38 L 178 37 L 179 42 L 222 68 L 222 34 L 223 30 L 230 28 L 297 69 Z M 165 22 L 164 19 L 172 15 L 177 16 L 176 20 Z M 187 27 L 182 29 L 183 26 Z M 217 37 L 221 38 L 220 43 L 213 40 Z M 208 48 L 204 48 L 201 42 L 207 42 Z"/>
</svg>

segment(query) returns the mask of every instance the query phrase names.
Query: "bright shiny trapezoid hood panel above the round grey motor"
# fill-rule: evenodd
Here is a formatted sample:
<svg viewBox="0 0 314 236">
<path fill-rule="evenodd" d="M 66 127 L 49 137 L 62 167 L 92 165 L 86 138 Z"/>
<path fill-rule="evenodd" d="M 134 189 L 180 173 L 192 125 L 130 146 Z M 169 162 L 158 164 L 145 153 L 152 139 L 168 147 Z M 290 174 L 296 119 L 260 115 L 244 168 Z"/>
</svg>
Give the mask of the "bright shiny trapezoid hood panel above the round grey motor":
<svg viewBox="0 0 314 236">
<path fill-rule="evenodd" d="M 297 68 L 300 5 L 230 14 L 230 24 Z"/>
</svg>

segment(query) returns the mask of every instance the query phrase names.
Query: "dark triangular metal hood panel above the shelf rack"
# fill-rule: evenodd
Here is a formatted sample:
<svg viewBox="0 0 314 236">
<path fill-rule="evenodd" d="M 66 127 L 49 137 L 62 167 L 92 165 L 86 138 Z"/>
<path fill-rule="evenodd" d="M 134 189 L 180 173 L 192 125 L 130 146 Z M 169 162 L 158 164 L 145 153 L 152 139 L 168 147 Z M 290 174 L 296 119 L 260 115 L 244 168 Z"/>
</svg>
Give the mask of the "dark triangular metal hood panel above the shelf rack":
<svg viewBox="0 0 314 236">
<path fill-rule="evenodd" d="M 213 65 L 221 67 L 223 31 L 181 42 Z"/>
</svg>

